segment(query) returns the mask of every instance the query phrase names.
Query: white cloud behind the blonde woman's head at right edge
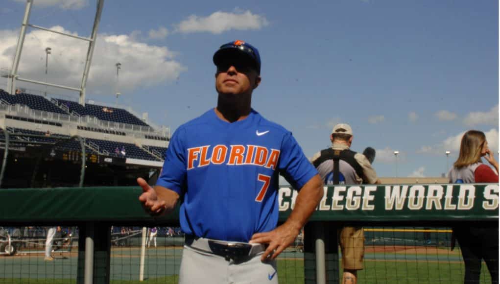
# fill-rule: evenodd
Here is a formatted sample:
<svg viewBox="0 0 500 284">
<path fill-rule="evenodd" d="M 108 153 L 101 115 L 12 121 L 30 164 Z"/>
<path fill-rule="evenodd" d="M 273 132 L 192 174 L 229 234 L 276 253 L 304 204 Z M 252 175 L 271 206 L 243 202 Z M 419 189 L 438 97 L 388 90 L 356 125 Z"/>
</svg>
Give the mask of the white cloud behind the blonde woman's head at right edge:
<svg viewBox="0 0 500 284">
<path fill-rule="evenodd" d="M 456 135 L 447 137 L 442 142 L 435 145 L 422 146 L 417 152 L 418 153 L 428 153 L 434 155 L 444 155 L 445 151 L 451 151 L 453 155 L 458 155 L 460 150 L 460 141 L 462 140 L 463 134 L 466 131 L 462 131 Z M 486 141 L 488 141 L 488 147 L 493 151 L 498 151 L 498 130 L 491 128 L 489 131 L 484 132 L 486 135 Z"/>
</svg>

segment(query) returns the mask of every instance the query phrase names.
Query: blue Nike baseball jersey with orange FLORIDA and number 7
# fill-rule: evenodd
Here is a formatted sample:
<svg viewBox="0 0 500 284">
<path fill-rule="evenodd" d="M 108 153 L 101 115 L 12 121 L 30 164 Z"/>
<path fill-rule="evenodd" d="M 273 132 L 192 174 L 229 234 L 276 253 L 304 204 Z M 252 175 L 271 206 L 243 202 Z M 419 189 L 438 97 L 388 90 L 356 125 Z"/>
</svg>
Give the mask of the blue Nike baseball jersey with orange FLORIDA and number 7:
<svg viewBox="0 0 500 284">
<path fill-rule="evenodd" d="M 184 233 L 247 242 L 277 224 L 279 173 L 297 189 L 317 174 L 291 132 L 253 109 L 232 123 L 210 109 L 174 132 L 156 185 L 183 198 Z"/>
</svg>

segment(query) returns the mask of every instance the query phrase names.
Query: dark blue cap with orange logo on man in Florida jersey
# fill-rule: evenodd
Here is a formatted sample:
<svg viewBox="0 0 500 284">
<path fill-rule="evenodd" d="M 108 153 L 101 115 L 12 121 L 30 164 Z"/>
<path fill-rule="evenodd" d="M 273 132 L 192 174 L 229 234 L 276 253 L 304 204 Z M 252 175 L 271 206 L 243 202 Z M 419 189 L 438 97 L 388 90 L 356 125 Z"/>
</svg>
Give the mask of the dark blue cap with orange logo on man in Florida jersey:
<svg viewBox="0 0 500 284">
<path fill-rule="evenodd" d="M 234 40 L 220 45 L 219 49 L 213 54 L 213 63 L 218 65 L 224 58 L 241 55 L 250 59 L 252 64 L 254 64 L 253 67 L 255 67 L 255 70 L 260 74 L 260 55 L 258 54 L 258 50 L 255 46 L 243 40 Z"/>
</svg>

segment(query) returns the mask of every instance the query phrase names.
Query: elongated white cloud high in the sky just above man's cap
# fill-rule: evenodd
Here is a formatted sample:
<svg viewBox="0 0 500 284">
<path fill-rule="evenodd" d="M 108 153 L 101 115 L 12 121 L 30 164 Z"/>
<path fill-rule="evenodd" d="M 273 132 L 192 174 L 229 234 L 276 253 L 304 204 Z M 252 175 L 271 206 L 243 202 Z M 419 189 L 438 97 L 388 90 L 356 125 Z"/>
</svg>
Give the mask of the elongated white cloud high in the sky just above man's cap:
<svg viewBox="0 0 500 284">
<path fill-rule="evenodd" d="M 176 31 L 182 33 L 211 32 L 219 34 L 231 29 L 260 29 L 268 24 L 269 22 L 264 16 L 253 14 L 249 10 L 233 13 L 216 11 L 206 17 L 190 15 L 187 19 L 176 25 Z"/>
</svg>

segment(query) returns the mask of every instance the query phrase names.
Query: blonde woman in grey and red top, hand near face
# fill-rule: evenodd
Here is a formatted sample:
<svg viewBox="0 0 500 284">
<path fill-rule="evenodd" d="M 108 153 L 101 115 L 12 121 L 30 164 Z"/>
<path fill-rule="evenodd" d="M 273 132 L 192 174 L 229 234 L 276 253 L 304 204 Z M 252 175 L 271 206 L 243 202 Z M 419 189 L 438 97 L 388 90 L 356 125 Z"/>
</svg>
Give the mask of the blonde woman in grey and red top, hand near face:
<svg viewBox="0 0 500 284">
<path fill-rule="evenodd" d="M 482 163 L 481 157 L 495 168 L 496 173 Z M 498 183 L 498 162 L 488 148 L 483 132 L 469 130 L 463 134 L 458 159 L 448 177 L 451 183 Z M 453 227 L 453 236 L 460 244 L 465 262 L 464 283 L 479 283 L 482 259 L 488 267 L 491 282 L 498 283 L 498 223 L 460 222 Z"/>
</svg>

